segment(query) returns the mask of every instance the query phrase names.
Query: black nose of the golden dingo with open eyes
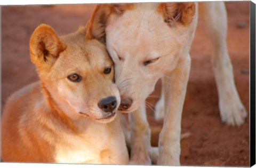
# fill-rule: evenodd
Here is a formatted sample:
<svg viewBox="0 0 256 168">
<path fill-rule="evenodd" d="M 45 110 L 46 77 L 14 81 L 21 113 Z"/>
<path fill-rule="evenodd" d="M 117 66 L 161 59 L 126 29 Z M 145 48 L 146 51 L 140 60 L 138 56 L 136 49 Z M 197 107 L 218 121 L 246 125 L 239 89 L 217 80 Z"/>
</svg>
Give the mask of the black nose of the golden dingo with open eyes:
<svg viewBox="0 0 256 168">
<path fill-rule="evenodd" d="M 105 112 L 112 112 L 116 108 L 116 105 L 117 101 L 115 97 L 101 99 L 98 103 L 99 108 Z"/>
</svg>

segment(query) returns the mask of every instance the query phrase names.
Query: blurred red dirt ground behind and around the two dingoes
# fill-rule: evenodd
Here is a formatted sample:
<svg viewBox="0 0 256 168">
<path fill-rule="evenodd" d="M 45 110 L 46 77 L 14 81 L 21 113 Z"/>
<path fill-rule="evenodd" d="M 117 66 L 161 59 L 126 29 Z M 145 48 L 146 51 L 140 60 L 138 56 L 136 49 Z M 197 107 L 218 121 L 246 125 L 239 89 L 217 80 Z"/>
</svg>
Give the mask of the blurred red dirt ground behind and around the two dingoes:
<svg viewBox="0 0 256 168">
<path fill-rule="evenodd" d="M 228 50 L 233 62 L 235 82 L 247 111 L 249 110 L 249 9 L 250 2 L 227 2 Z M 30 62 L 29 37 L 41 23 L 51 25 L 59 35 L 72 33 L 85 25 L 94 5 L 3 6 L 2 7 L 2 106 L 6 98 L 38 79 Z M 222 124 L 217 88 L 211 68 L 211 45 L 199 19 L 191 47 L 191 72 L 182 114 L 182 132 L 190 137 L 181 141 L 182 165 L 249 166 L 249 118 L 244 125 Z M 160 83 L 153 95 L 160 93 Z M 156 99 L 150 100 L 155 103 Z M 162 122 L 153 119 L 152 127 Z M 157 137 L 153 137 L 153 145 Z"/>
</svg>

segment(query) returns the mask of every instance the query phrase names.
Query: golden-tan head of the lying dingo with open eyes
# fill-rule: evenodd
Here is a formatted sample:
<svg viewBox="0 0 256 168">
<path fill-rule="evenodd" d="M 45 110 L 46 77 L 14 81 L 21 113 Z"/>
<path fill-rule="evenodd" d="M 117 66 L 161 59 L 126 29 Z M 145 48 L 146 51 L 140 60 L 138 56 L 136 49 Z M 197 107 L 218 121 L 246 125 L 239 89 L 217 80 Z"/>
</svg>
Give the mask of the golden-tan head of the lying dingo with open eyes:
<svg viewBox="0 0 256 168">
<path fill-rule="evenodd" d="M 68 117 L 113 121 L 120 104 L 114 65 L 106 47 L 85 39 L 85 28 L 59 37 L 47 25 L 30 38 L 31 60 L 37 66 L 49 103 Z"/>
</svg>

